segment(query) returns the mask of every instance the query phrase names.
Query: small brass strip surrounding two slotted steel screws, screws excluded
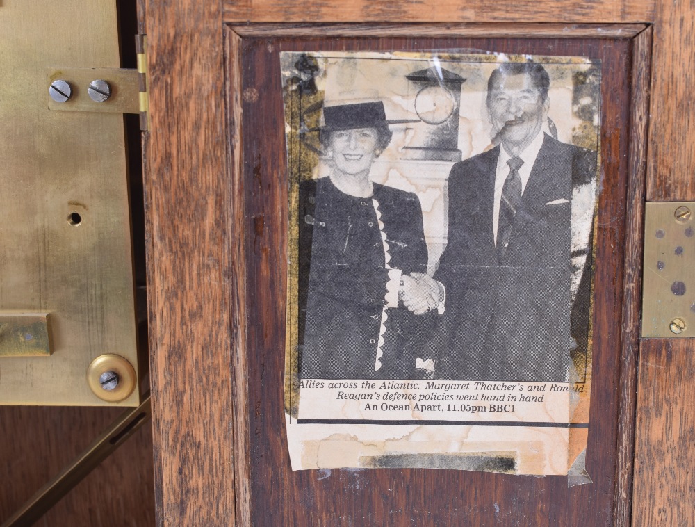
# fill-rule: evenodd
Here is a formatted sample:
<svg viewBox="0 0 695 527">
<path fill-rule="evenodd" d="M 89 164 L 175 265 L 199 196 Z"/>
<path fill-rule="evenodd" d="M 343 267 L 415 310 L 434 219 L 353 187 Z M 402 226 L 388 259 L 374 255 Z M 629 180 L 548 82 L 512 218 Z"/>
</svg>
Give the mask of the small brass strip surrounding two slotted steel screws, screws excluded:
<svg viewBox="0 0 695 527">
<path fill-rule="evenodd" d="M 72 97 L 65 102 L 56 102 L 49 97 L 50 110 L 80 112 L 140 113 L 140 85 L 138 70 L 90 67 L 50 68 L 46 83 L 48 92 L 53 81 L 63 80 L 70 84 Z M 90 82 L 106 81 L 111 87 L 111 97 L 104 102 L 94 102 L 87 92 Z"/>
</svg>

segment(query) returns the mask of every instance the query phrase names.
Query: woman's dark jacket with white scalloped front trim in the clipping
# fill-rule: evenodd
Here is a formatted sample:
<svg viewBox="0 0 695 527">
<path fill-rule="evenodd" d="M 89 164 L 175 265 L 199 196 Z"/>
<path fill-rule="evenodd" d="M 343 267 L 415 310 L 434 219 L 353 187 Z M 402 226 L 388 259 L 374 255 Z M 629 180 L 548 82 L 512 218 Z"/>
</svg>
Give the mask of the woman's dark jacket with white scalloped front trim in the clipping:
<svg viewBox="0 0 695 527">
<path fill-rule="evenodd" d="M 415 368 L 422 353 L 413 344 L 423 321 L 402 305 L 386 309 L 382 366 L 375 370 L 389 269 L 427 272 L 417 195 L 374 184 L 373 197 L 354 197 L 328 177 L 304 181 L 299 222 L 300 377 L 423 378 Z"/>
</svg>

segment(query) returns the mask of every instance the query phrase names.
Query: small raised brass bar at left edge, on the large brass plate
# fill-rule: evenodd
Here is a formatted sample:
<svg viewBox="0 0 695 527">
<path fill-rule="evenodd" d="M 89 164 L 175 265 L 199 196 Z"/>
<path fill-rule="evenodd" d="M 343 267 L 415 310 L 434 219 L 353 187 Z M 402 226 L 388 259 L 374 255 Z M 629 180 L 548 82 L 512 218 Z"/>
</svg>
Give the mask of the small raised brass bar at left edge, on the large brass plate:
<svg viewBox="0 0 695 527">
<path fill-rule="evenodd" d="M 0 313 L 0 357 L 51 355 L 48 314 Z"/>
</svg>

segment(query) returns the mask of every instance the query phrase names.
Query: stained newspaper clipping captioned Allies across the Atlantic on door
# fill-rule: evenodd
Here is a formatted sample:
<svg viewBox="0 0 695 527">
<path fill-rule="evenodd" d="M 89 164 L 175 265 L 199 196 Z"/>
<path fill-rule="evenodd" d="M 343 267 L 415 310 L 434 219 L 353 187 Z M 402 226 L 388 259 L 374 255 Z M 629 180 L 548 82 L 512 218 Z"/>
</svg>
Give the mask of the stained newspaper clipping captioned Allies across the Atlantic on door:
<svg viewBox="0 0 695 527">
<path fill-rule="evenodd" d="M 281 74 L 293 469 L 589 483 L 600 63 L 287 52 Z"/>
</svg>

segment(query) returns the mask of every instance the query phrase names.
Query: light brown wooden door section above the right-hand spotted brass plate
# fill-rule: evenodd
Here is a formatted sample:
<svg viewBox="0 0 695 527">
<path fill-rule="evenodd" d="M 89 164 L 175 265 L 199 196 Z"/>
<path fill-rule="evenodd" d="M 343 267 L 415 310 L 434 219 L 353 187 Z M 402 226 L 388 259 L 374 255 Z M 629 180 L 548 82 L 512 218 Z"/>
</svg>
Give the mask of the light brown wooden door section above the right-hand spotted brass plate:
<svg viewBox="0 0 695 527">
<path fill-rule="evenodd" d="M 647 201 L 695 200 L 695 5 L 657 3 Z"/>
</svg>

